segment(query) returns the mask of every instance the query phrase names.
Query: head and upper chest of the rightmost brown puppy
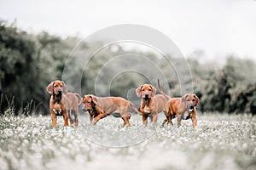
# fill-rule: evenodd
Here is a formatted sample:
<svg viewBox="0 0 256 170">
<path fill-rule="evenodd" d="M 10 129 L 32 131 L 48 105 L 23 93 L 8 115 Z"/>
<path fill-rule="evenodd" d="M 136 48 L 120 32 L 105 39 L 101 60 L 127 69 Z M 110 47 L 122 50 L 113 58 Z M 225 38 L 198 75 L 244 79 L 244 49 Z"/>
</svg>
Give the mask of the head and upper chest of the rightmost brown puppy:
<svg viewBox="0 0 256 170">
<path fill-rule="evenodd" d="M 189 119 L 190 114 L 195 111 L 195 107 L 199 103 L 199 98 L 195 94 L 185 94 L 182 97 L 182 103 L 184 108 L 186 108 L 184 117 L 185 119 Z"/>
</svg>

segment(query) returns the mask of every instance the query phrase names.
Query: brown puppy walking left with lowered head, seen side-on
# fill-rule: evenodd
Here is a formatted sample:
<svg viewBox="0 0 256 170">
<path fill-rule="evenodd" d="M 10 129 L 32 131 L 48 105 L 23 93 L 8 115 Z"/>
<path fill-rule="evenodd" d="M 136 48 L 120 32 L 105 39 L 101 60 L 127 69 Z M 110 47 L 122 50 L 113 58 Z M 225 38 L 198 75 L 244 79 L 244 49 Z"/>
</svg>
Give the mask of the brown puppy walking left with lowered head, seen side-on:
<svg viewBox="0 0 256 170">
<path fill-rule="evenodd" d="M 89 112 L 91 124 L 96 124 L 100 119 L 112 114 L 115 117 L 121 117 L 124 121 L 124 126 L 131 127 L 129 122 L 131 118 L 130 107 L 137 111 L 134 104 L 120 97 L 96 97 L 88 94 L 84 95 L 82 100 L 84 103 L 83 110 Z"/>
</svg>

